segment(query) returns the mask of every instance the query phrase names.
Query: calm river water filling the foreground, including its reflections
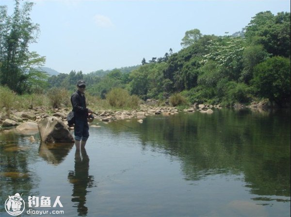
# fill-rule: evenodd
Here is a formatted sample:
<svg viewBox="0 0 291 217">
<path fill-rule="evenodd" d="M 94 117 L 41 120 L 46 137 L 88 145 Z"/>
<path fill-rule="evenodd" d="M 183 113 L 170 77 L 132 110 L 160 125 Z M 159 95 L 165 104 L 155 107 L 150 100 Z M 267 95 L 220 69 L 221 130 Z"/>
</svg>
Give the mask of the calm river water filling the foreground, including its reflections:
<svg viewBox="0 0 291 217">
<path fill-rule="evenodd" d="M 105 124 L 84 151 L 0 132 L 0 216 L 22 194 L 22 216 L 290 216 L 290 112 L 215 110 Z M 29 196 L 51 207 L 28 207 Z M 57 196 L 63 207 L 52 207 Z M 27 211 L 31 210 L 31 213 Z M 51 216 L 51 215 L 47 215 Z"/>
</svg>

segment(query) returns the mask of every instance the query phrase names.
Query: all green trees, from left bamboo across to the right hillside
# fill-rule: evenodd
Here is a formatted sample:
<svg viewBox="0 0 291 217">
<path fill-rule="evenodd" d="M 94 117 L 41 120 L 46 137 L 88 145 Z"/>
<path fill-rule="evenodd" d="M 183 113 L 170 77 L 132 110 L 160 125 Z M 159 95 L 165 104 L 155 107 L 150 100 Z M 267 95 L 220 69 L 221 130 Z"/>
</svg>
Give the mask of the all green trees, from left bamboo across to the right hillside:
<svg viewBox="0 0 291 217">
<path fill-rule="evenodd" d="M 279 106 L 290 104 L 290 13 L 260 12 L 231 36 L 187 31 L 181 39 L 183 49 L 170 49 L 148 62 L 144 58 L 140 66 L 89 74 L 72 70 L 46 79 L 34 67 L 44 58 L 28 51 L 38 30 L 29 18 L 31 7 L 26 3 L 19 10 L 16 0 L 13 17 L 0 7 L 0 83 L 18 93 L 55 87 L 73 91 L 84 79 L 87 93 L 101 99 L 121 88 L 143 100 L 166 100 L 180 93 L 189 103 L 233 105 L 267 98 Z"/>
</svg>

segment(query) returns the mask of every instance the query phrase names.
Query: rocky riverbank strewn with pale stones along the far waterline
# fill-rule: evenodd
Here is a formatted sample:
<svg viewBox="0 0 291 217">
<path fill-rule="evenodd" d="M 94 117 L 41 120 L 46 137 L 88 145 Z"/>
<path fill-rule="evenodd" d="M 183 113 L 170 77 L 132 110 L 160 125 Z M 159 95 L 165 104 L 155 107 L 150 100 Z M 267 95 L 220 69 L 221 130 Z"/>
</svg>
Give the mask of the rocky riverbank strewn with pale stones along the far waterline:
<svg viewBox="0 0 291 217">
<path fill-rule="evenodd" d="M 235 105 L 236 108 L 262 108 L 267 106 L 267 102 L 252 103 L 250 106 L 244 106 L 241 104 Z M 110 122 L 121 119 L 136 119 L 141 122 L 147 116 L 171 116 L 178 112 L 201 112 L 206 114 L 212 114 L 215 109 L 221 109 L 220 105 L 209 104 L 193 104 L 187 109 L 179 110 L 177 107 L 171 106 L 157 106 L 153 101 L 146 102 L 140 105 L 137 110 L 98 110 L 94 111 L 95 119 L 103 122 Z M 71 108 L 60 109 L 48 109 L 45 106 L 35 107 L 26 111 L 11 110 L 11 114 L 8 117 L 5 113 L 0 113 L 0 126 L 1 127 L 16 127 L 22 123 L 38 123 L 42 119 L 53 116 L 60 118 L 65 124 L 67 124 L 66 116 L 71 111 Z M 33 125 L 33 124 L 31 124 Z"/>
</svg>

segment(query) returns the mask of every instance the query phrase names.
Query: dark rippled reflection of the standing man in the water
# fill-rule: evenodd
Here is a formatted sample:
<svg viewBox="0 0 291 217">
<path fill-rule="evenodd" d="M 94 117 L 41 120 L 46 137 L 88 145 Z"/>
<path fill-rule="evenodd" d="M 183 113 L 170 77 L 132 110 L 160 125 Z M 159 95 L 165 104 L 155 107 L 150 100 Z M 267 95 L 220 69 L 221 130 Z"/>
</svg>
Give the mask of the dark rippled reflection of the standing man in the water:
<svg viewBox="0 0 291 217">
<path fill-rule="evenodd" d="M 69 171 L 68 179 L 73 184 L 72 202 L 75 202 L 79 216 L 86 216 L 88 207 L 86 204 L 87 187 L 92 187 L 94 176 L 89 175 L 89 156 L 86 149 L 76 149 L 75 170 Z"/>
</svg>

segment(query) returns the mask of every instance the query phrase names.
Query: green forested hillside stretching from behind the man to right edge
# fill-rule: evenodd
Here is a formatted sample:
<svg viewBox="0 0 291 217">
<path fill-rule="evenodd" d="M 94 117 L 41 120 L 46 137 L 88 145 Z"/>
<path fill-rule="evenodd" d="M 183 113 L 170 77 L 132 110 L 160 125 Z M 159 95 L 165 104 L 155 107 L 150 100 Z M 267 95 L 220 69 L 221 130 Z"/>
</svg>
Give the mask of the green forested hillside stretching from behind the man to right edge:
<svg viewBox="0 0 291 217">
<path fill-rule="evenodd" d="M 283 106 L 290 101 L 290 13 L 261 12 L 231 36 L 190 30 L 181 45 L 177 53 L 169 50 L 163 57 L 143 59 L 128 71 L 72 71 L 49 78 L 49 83 L 74 89 L 84 79 L 87 91 L 102 98 L 121 87 L 143 100 L 180 93 L 190 103 L 232 105 L 266 98 Z"/>
</svg>

